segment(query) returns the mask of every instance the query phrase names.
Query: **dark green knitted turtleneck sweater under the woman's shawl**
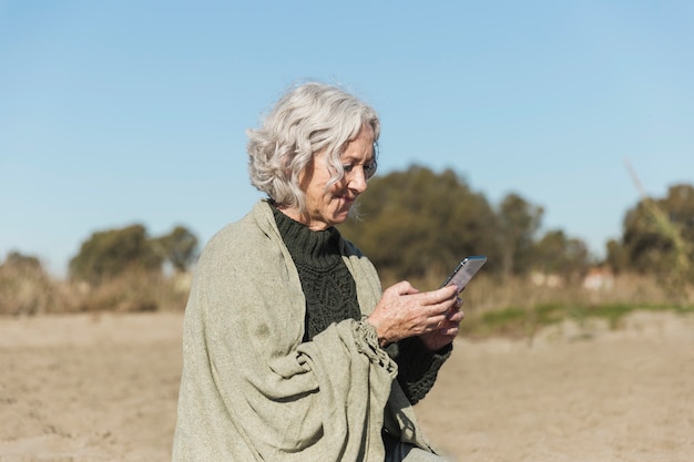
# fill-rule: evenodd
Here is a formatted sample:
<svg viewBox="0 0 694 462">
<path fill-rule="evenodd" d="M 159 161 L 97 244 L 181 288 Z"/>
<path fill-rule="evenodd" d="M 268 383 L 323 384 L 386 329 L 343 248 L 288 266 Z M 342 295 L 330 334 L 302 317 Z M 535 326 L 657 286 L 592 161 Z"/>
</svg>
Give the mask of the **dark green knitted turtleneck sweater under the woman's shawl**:
<svg viewBox="0 0 694 462">
<path fill-rule="evenodd" d="M 306 297 L 304 341 L 334 322 L 349 318 L 358 320 L 357 289 L 339 254 L 339 232 L 334 227 L 310 230 L 276 207 L 273 207 L 273 214 Z M 432 352 L 414 337 L 390 345 L 386 351 L 398 365 L 398 382 L 402 391 L 416 404 L 433 387 L 439 369 L 450 356 L 451 346 Z"/>
</svg>

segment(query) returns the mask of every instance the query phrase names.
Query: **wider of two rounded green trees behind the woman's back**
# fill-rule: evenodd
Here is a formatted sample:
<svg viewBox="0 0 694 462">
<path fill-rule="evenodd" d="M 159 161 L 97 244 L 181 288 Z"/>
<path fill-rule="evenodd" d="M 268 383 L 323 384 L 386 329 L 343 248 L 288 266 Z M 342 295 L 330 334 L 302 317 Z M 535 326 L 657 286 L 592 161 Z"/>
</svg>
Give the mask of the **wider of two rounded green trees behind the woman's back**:
<svg viewBox="0 0 694 462">
<path fill-rule="evenodd" d="M 142 225 L 96 232 L 70 260 L 70 277 L 99 285 L 129 269 L 161 271 L 162 256 Z"/>
</svg>

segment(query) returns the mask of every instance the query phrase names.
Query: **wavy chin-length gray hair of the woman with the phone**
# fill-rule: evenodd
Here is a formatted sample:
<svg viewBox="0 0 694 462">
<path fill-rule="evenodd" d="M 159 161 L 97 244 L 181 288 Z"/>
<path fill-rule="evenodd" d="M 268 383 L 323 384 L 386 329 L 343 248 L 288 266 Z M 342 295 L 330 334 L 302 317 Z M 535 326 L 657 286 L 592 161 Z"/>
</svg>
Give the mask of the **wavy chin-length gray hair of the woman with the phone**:
<svg viewBox="0 0 694 462">
<path fill-rule="evenodd" d="M 290 88 L 265 116 L 262 126 L 246 132 L 251 183 L 275 203 L 304 212 L 305 197 L 299 187 L 304 168 L 314 154 L 327 150 L 334 171 L 327 186 L 339 182 L 345 174 L 340 156 L 364 125 L 374 129 L 376 156 L 380 121 L 370 105 L 324 83 Z"/>
</svg>

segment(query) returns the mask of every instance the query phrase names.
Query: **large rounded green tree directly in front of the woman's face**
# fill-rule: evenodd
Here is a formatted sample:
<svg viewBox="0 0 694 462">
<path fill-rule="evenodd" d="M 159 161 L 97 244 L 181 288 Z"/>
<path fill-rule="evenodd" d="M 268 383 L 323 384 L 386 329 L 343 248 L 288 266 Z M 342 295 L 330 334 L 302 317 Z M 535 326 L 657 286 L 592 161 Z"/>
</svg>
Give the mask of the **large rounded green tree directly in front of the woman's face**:
<svg viewBox="0 0 694 462">
<path fill-rule="evenodd" d="M 340 226 L 379 270 L 398 278 L 445 273 L 466 255 L 496 265 L 496 217 L 487 199 L 451 170 L 411 166 L 369 181 L 358 219 Z"/>
</svg>

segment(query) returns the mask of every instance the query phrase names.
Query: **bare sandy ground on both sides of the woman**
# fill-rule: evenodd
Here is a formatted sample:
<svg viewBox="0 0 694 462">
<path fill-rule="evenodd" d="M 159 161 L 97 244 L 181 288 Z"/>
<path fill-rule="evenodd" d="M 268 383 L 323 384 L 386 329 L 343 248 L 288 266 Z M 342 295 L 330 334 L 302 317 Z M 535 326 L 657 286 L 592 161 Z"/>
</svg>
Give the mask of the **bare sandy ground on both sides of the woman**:
<svg viewBox="0 0 694 462">
<path fill-rule="evenodd" d="M 0 461 L 167 461 L 181 315 L 0 318 Z M 694 461 L 694 318 L 457 341 L 418 404 L 466 461 Z"/>
</svg>

